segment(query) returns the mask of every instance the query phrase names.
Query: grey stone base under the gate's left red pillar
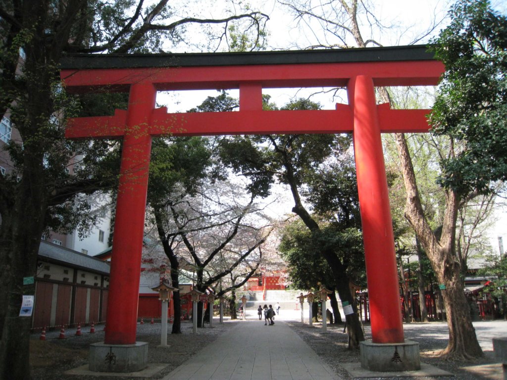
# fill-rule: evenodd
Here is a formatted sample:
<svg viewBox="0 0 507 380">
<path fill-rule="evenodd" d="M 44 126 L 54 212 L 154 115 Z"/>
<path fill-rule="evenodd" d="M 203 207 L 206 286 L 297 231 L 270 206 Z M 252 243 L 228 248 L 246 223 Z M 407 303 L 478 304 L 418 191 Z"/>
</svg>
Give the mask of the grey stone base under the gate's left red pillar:
<svg viewBox="0 0 507 380">
<path fill-rule="evenodd" d="M 148 366 L 148 343 L 133 345 L 90 345 L 88 368 L 97 372 L 135 372 Z"/>
</svg>

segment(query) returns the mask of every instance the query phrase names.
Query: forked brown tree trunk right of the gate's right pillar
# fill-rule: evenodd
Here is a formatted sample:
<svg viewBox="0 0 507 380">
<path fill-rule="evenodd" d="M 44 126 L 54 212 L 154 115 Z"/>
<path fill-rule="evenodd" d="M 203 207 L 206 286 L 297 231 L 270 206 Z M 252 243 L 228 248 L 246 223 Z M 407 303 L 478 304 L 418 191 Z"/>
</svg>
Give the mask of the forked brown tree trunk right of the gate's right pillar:
<svg viewBox="0 0 507 380">
<path fill-rule="evenodd" d="M 455 232 L 459 197 L 452 190 L 446 191 L 446 210 L 444 213 L 440 239 L 434 235 L 426 220 L 417 189 L 414 168 L 410 159 L 405 136 L 396 134 L 396 146 L 401 160 L 401 168 L 407 191 L 405 217 L 414 228 L 426 255 L 431 262 L 437 280 L 445 286 L 442 291 L 449 327 L 449 343 L 443 355 L 449 359 L 468 360 L 483 356 L 470 309 L 460 279 L 460 264 L 455 255 Z"/>
</svg>

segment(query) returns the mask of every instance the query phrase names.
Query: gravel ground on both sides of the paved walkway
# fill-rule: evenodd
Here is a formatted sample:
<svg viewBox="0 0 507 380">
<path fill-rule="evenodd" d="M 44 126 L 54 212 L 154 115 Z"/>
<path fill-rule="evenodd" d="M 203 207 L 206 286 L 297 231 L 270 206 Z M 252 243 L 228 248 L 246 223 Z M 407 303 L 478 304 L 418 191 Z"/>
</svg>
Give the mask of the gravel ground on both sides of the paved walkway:
<svg viewBox="0 0 507 380">
<path fill-rule="evenodd" d="M 280 318 L 282 319 L 282 318 Z M 149 343 L 149 363 L 167 364 L 161 372 L 151 377 L 160 379 L 174 368 L 188 360 L 193 354 L 211 343 L 216 337 L 229 328 L 236 321 L 227 321 L 224 324 L 214 323 L 213 328 L 198 329 L 197 334 L 192 333 L 190 322 L 182 323 L 182 334 L 169 334 L 167 343 L 170 349 L 157 348 L 160 344 L 160 323 L 145 323 L 137 326 L 137 340 Z M 340 366 L 340 363 L 359 361 L 359 351 L 347 350 L 347 335 L 343 333 L 343 325 L 328 325 L 328 334 L 320 333 L 319 325 L 313 327 L 294 321 L 286 323 L 297 332 L 306 343 L 343 379 L 353 377 Z M 447 345 L 447 325 L 441 322 L 406 324 L 405 336 L 415 340 L 421 349 L 421 361 L 439 367 L 455 374 L 455 377 L 417 377 L 420 380 L 458 378 L 465 380 L 493 380 L 501 379 L 501 366 L 495 359 L 492 351 L 491 338 L 507 333 L 507 322 L 477 322 L 474 323 L 479 342 L 485 352 L 485 357 L 474 363 L 450 362 L 439 358 L 439 351 Z M 207 325 L 206 325 L 207 326 Z M 170 328 L 170 327 L 169 327 Z M 116 380 L 132 379 L 127 376 L 81 376 L 67 375 L 64 372 L 87 364 L 88 351 L 91 343 L 103 341 L 103 326 L 96 326 L 96 333 L 90 334 L 90 328 L 82 329 L 82 336 L 75 336 L 76 329 L 66 330 L 65 339 L 58 339 L 59 330 L 47 332 L 47 340 L 39 339 L 40 333 L 34 333 L 30 341 L 30 364 L 32 376 L 37 380 L 53 380 L 71 378 L 75 380 L 103 380 L 111 378 Z M 365 335 L 371 339 L 370 327 L 365 326 Z M 476 373 L 477 372 L 477 373 Z M 404 380 L 408 377 L 397 377 Z"/>
</svg>

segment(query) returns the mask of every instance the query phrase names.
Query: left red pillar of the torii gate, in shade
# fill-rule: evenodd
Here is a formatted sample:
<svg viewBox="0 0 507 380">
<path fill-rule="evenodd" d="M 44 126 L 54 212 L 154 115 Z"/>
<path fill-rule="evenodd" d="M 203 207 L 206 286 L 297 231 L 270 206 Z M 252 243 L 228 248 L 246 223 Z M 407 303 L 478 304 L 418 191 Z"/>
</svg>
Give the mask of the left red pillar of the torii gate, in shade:
<svg viewBox="0 0 507 380">
<path fill-rule="evenodd" d="M 104 342 L 135 343 L 142 236 L 152 137 L 149 116 L 156 91 L 150 84 L 131 86 L 127 128 L 123 139 L 120 184 L 116 203 L 111 281 Z"/>
</svg>

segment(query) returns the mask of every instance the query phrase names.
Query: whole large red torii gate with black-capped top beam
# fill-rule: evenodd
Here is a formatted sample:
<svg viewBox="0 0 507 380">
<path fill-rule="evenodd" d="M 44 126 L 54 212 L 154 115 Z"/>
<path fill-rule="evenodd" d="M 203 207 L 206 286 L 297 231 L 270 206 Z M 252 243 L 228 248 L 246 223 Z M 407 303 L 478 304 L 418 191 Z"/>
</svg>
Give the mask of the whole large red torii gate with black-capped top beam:
<svg viewBox="0 0 507 380">
<path fill-rule="evenodd" d="M 376 104 L 375 86 L 436 85 L 444 71 L 425 46 L 171 55 L 74 55 L 68 92 L 129 92 L 115 116 L 68 121 L 66 137 L 123 138 L 106 345 L 135 344 L 140 259 L 152 136 L 352 133 L 374 343 L 403 343 L 382 132 L 427 132 L 427 109 Z M 263 88 L 346 87 L 335 110 L 262 110 Z M 157 91 L 239 89 L 239 111 L 167 113 Z"/>
</svg>

